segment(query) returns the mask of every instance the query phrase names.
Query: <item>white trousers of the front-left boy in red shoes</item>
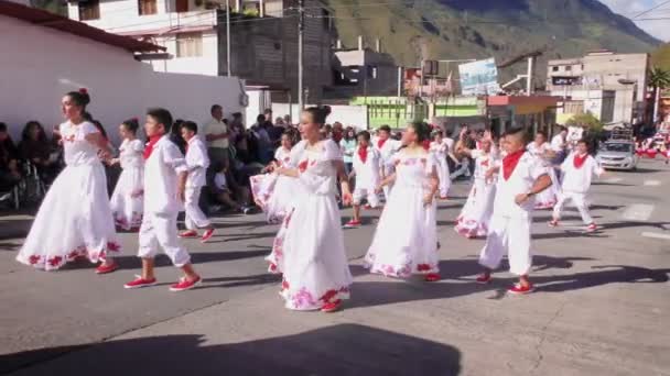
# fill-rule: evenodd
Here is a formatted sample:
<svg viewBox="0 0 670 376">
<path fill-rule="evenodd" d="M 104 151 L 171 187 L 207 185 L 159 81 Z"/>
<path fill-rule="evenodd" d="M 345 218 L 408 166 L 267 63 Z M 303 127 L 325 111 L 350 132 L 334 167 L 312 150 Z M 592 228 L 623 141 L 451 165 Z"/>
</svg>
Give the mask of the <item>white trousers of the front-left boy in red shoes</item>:
<svg viewBox="0 0 670 376">
<path fill-rule="evenodd" d="M 153 258 L 161 246 L 174 266 L 182 267 L 191 262 L 191 255 L 181 246 L 176 235 L 176 215 L 144 212 L 140 226 L 139 257 Z"/>
</svg>

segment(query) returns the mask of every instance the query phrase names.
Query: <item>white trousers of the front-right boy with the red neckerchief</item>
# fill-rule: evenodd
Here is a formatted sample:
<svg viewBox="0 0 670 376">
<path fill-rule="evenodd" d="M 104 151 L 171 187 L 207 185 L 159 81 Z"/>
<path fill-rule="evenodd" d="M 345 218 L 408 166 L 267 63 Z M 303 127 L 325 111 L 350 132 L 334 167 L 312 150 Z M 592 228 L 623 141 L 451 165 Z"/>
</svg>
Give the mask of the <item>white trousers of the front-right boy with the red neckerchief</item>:
<svg viewBox="0 0 670 376">
<path fill-rule="evenodd" d="M 530 254 L 531 218 L 509 218 L 496 215 L 490 220 L 486 244 L 479 254 L 479 264 L 491 270 L 498 268 L 507 254 L 509 272 L 518 276 L 527 275 L 532 265 Z"/>
</svg>

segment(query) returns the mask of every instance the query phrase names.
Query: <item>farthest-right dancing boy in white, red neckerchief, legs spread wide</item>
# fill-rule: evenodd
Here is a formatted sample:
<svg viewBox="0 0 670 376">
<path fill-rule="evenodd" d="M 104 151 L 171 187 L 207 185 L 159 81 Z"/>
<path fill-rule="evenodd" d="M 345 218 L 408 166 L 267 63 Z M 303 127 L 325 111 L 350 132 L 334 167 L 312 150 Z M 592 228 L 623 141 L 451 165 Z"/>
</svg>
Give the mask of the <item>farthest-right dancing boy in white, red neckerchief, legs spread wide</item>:
<svg viewBox="0 0 670 376">
<path fill-rule="evenodd" d="M 586 224 L 586 231 L 596 231 L 597 225 L 588 213 L 586 193 L 588 192 L 588 188 L 591 188 L 593 175 L 601 177 L 605 170 L 588 154 L 588 146 L 585 140 L 577 142 L 576 151 L 565 158 L 561 165 L 561 172 L 563 173 L 563 189 L 559 193 L 559 201 L 553 207 L 553 220 L 549 222 L 549 225 L 552 228 L 559 225 L 563 206 L 568 200 L 572 200 L 582 215 L 582 221 Z"/>
</svg>

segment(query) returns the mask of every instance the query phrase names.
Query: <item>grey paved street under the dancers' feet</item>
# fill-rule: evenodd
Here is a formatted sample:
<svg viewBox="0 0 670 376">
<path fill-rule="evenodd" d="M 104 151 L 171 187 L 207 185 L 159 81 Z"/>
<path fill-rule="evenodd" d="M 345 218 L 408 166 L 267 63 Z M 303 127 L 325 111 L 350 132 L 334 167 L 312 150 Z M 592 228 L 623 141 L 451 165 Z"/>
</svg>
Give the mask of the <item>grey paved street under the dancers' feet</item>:
<svg viewBox="0 0 670 376">
<path fill-rule="evenodd" d="M 505 270 L 473 281 L 482 240 L 453 221 L 468 186 L 439 213 L 444 279 L 428 285 L 366 274 L 361 256 L 379 212 L 345 232 L 353 299 L 345 310 L 291 312 L 266 274 L 275 226 L 261 215 L 217 219 L 215 241 L 190 242 L 202 288 L 168 291 L 177 277 L 160 259 L 160 286 L 128 291 L 137 235 L 123 234 L 122 269 L 86 264 L 56 273 L 13 261 L 24 215 L 0 217 L 0 373 L 12 375 L 670 375 L 670 167 L 644 161 L 594 186 L 603 230 L 585 234 L 534 218 L 537 294 L 505 294 Z M 345 217 L 348 210 L 345 211 Z M 54 218 L 54 221 L 57 219 Z M 45 244 L 48 246 L 48 244 Z"/>
</svg>

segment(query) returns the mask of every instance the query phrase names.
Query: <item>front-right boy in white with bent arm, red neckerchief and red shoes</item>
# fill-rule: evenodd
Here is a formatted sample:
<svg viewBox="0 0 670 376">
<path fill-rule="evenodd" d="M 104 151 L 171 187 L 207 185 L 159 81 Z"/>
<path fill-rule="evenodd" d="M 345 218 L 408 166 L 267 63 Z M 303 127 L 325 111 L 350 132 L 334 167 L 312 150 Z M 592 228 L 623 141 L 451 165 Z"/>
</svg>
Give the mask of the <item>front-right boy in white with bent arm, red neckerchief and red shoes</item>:
<svg viewBox="0 0 670 376">
<path fill-rule="evenodd" d="M 487 172 L 488 176 L 496 172 L 500 174 L 486 244 L 479 255 L 484 273 L 477 277 L 477 283 L 489 283 L 491 272 L 507 254 L 509 272 L 519 276 L 519 283 L 508 290 L 511 294 L 528 294 L 533 290 L 528 279 L 532 265 L 530 225 L 533 197 L 551 186 L 548 167 L 530 153 L 526 153 L 525 140 L 526 133 L 521 128 L 505 132 L 501 144 L 507 156 L 501 165 Z"/>
</svg>

